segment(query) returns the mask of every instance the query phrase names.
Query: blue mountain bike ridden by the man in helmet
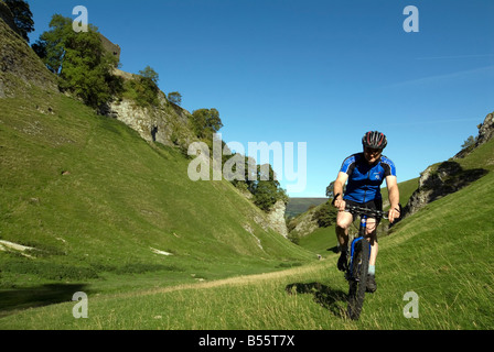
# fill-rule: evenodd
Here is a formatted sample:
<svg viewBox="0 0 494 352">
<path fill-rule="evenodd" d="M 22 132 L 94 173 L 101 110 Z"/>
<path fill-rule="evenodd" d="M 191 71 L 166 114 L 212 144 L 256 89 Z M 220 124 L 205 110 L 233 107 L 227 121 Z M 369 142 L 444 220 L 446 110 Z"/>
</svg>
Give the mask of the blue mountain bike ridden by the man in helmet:
<svg viewBox="0 0 494 352">
<path fill-rule="evenodd" d="M 377 226 L 380 219 L 387 219 L 387 215 L 380 210 L 350 205 L 346 205 L 345 211 L 359 216 L 361 218 L 358 235 L 354 239 L 348 238 L 348 243 L 352 244 L 347 249 L 348 253 L 346 257 L 348 258 L 348 262 L 345 272 L 345 278 L 350 286 L 346 312 L 350 319 L 358 320 L 362 307 L 364 306 L 365 292 L 367 289 L 368 261 L 370 257 L 370 243 L 365 238 L 367 219 L 376 219 Z M 348 237 L 351 237 L 350 233 Z"/>
</svg>

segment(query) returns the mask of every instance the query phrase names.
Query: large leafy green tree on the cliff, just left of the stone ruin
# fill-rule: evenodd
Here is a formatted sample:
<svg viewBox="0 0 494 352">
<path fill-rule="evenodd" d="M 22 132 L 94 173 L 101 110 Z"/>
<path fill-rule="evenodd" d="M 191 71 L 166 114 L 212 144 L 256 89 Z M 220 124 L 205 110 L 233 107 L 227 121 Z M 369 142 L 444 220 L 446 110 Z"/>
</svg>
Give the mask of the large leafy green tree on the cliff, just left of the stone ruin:
<svg viewBox="0 0 494 352">
<path fill-rule="evenodd" d="M 118 59 L 103 47 L 98 30 L 76 33 L 72 20 L 55 14 L 50 31 L 44 32 L 33 48 L 46 67 L 60 77 L 62 90 L 71 91 L 83 101 L 103 109 L 121 89 L 121 80 L 112 75 Z"/>
</svg>

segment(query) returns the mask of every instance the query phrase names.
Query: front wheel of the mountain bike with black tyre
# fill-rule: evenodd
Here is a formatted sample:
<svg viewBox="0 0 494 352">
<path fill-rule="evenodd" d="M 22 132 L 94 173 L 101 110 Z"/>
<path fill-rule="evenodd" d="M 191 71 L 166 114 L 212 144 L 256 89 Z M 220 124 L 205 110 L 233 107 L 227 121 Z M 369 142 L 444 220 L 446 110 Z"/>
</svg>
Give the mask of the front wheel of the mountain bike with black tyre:
<svg viewBox="0 0 494 352">
<path fill-rule="evenodd" d="M 366 240 L 355 243 L 355 252 L 352 261 L 352 277 L 350 277 L 348 308 L 350 319 L 358 320 L 364 305 L 367 287 L 369 244 Z"/>
</svg>

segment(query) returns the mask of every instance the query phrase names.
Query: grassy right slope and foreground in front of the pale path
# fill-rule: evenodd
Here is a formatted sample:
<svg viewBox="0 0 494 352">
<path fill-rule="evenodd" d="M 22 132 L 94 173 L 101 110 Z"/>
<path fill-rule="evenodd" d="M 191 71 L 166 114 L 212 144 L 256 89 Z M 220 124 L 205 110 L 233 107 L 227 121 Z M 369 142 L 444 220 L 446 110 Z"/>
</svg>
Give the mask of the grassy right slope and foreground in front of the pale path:
<svg viewBox="0 0 494 352">
<path fill-rule="evenodd" d="M 494 260 L 494 141 L 465 167 L 490 173 L 400 222 L 380 241 L 378 289 L 367 295 L 359 321 L 344 316 L 347 284 L 336 255 L 283 272 L 89 296 L 88 319 L 74 302 L 0 319 L 22 329 L 492 329 Z M 406 318 L 407 293 L 418 318 Z"/>
</svg>

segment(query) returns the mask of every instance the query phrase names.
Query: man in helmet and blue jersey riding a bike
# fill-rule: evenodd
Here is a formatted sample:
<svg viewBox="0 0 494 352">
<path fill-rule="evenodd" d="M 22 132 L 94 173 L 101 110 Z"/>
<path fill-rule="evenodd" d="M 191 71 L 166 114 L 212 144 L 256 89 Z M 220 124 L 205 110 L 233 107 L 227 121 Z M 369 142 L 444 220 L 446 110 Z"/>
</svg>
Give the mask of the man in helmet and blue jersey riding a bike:
<svg viewBox="0 0 494 352">
<path fill-rule="evenodd" d="M 342 251 L 337 262 L 340 271 L 346 271 L 346 251 L 348 245 L 348 228 L 355 220 L 355 216 L 345 211 L 345 206 L 353 205 L 370 209 L 383 210 L 383 198 L 380 195 L 380 185 L 386 179 L 389 196 L 389 222 L 399 218 L 399 190 L 396 178 L 395 164 L 382 155 L 387 145 L 386 135 L 378 131 L 369 131 L 362 139 L 364 151 L 356 153 L 343 162 L 342 168 L 334 182 L 333 191 L 335 199 L 333 205 L 339 209 L 336 217 L 336 237 Z M 343 195 L 343 187 L 346 184 L 346 190 Z M 370 243 L 370 258 L 367 277 L 367 292 L 374 293 L 376 285 L 376 257 L 378 252 L 376 229 L 376 219 L 367 219 L 366 237 Z"/>
</svg>

